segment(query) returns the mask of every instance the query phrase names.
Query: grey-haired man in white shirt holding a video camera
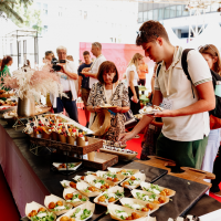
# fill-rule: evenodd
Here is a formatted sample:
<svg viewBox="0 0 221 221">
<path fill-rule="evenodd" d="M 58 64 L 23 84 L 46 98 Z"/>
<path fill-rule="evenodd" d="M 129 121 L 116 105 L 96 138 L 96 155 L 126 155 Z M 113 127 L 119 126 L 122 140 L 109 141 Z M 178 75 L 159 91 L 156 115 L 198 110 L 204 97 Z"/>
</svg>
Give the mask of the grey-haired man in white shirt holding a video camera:
<svg viewBox="0 0 221 221">
<path fill-rule="evenodd" d="M 77 69 L 74 62 L 66 60 L 66 48 L 59 46 L 56 49 L 59 61 L 65 60 L 65 63 L 57 63 L 61 66 L 61 71 L 57 71 L 61 84 L 63 86 L 63 93 L 66 97 L 54 97 L 53 108 L 54 113 L 63 112 L 63 108 L 67 112 L 70 118 L 78 123 L 78 113 L 76 107 L 77 91 L 75 81 L 78 78 Z"/>
</svg>

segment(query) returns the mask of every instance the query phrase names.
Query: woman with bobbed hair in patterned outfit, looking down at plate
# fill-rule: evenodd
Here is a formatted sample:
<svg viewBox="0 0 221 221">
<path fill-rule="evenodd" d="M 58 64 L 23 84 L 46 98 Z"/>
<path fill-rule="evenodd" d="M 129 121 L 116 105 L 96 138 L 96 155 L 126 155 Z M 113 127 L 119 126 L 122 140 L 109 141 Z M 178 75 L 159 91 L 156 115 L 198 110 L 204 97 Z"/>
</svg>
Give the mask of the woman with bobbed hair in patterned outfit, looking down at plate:
<svg viewBox="0 0 221 221">
<path fill-rule="evenodd" d="M 117 67 L 113 62 L 105 61 L 97 73 L 98 83 L 93 84 L 87 101 L 87 109 L 91 113 L 99 113 L 101 106 L 109 104 L 110 127 L 104 135 L 107 140 L 118 140 L 118 136 L 125 133 L 125 115 L 129 110 L 128 91 L 124 83 L 118 83 Z"/>
</svg>

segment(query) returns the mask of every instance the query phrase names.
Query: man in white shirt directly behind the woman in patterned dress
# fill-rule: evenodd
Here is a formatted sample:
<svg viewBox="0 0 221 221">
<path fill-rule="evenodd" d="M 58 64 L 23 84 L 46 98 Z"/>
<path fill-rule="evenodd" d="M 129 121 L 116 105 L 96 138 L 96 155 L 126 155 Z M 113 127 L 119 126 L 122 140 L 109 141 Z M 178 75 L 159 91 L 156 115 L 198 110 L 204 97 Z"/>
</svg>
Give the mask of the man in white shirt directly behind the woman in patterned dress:
<svg viewBox="0 0 221 221">
<path fill-rule="evenodd" d="M 92 54 L 96 56 L 96 60 L 93 62 L 91 67 L 85 67 L 82 70 L 82 74 L 85 76 L 90 76 L 90 88 L 92 88 L 92 85 L 94 83 L 97 83 L 97 73 L 99 70 L 99 66 L 103 62 L 106 61 L 105 56 L 102 54 L 102 44 L 99 42 L 92 43 Z"/>
</svg>

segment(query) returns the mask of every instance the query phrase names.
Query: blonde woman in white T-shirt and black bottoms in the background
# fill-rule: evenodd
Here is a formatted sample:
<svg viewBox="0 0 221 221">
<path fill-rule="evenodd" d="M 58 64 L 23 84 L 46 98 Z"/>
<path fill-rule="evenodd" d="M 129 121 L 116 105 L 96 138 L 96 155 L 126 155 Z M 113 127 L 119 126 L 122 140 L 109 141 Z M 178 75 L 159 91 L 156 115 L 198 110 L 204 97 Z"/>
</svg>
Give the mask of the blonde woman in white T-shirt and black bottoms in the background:
<svg viewBox="0 0 221 221">
<path fill-rule="evenodd" d="M 143 55 L 136 53 L 131 61 L 129 62 L 127 70 L 126 70 L 126 77 L 127 77 L 127 85 L 128 85 L 128 95 L 130 101 L 130 109 L 133 114 L 138 114 L 140 109 L 139 104 L 139 90 L 138 90 L 138 66 L 141 63 Z"/>
</svg>

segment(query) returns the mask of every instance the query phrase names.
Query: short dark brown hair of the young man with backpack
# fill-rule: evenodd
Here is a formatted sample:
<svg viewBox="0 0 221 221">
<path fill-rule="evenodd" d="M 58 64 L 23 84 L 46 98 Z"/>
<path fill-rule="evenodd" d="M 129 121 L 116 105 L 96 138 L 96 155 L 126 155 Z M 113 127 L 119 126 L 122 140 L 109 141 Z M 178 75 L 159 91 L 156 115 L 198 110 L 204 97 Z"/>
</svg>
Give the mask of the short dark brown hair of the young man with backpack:
<svg viewBox="0 0 221 221">
<path fill-rule="evenodd" d="M 165 27 L 158 21 L 146 21 L 140 28 L 136 39 L 136 44 L 140 46 L 144 43 L 155 42 L 158 36 L 170 43 Z"/>
</svg>

